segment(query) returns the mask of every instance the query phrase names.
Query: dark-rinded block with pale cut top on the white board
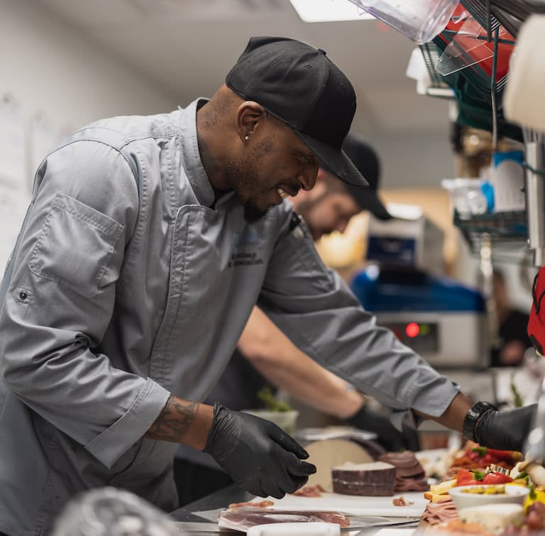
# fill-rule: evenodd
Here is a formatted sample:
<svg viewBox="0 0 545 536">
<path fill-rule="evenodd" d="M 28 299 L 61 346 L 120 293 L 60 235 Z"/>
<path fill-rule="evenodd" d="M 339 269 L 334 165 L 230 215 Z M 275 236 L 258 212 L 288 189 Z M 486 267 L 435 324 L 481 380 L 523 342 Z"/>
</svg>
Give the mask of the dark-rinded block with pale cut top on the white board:
<svg viewBox="0 0 545 536">
<path fill-rule="evenodd" d="M 395 466 L 384 461 L 336 466 L 331 478 L 335 493 L 390 496 L 395 491 Z"/>
</svg>

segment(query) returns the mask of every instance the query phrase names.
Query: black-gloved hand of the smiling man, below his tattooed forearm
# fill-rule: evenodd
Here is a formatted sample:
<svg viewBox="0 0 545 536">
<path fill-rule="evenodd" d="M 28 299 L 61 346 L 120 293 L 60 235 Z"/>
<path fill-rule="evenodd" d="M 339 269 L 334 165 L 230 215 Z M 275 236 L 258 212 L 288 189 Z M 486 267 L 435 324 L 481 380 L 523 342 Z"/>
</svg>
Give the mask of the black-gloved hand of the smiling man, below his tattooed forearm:
<svg viewBox="0 0 545 536">
<path fill-rule="evenodd" d="M 238 486 L 260 497 L 277 499 L 304 486 L 316 466 L 309 454 L 274 423 L 214 405 L 208 452 Z"/>
</svg>

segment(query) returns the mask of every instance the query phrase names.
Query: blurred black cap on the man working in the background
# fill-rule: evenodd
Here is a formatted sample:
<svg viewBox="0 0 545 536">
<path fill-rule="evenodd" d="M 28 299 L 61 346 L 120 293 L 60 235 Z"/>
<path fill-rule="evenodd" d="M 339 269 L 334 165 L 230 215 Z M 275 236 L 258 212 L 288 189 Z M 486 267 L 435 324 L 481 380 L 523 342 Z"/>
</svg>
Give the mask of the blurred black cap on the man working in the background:
<svg viewBox="0 0 545 536">
<path fill-rule="evenodd" d="M 346 136 L 343 151 L 369 183 L 368 188 L 347 184 L 346 189 L 350 195 L 363 210 L 368 210 L 378 219 L 391 219 L 392 214 L 387 211 L 377 194 L 380 180 L 380 160 L 376 151 L 362 136 L 355 133 L 349 133 Z"/>
</svg>

